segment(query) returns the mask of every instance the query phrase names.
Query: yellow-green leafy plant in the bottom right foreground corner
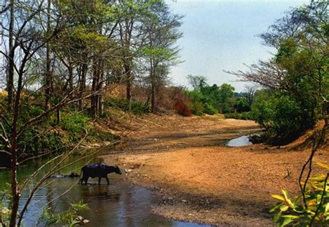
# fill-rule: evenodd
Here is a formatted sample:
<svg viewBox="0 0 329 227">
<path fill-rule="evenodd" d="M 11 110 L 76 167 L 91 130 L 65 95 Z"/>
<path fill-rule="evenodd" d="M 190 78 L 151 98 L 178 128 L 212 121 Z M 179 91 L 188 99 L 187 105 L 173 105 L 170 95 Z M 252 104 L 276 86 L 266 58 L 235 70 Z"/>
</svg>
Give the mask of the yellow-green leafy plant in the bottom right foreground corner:
<svg viewBox="0 0 329 227">
<path fill-rule="evenodd" d="M 273 194 L 280 202 L 270 208 L 277 211 L 273 222 L 278 226 L 328 226 L 329 225 L 329 166 L 317 163 L 326 169 L 326 174 L 310 178 L 305 187 L 305 201 L 302 195 L 289 198 L 288 192 L 282 190 L 282 195 Z"/>
</svg>

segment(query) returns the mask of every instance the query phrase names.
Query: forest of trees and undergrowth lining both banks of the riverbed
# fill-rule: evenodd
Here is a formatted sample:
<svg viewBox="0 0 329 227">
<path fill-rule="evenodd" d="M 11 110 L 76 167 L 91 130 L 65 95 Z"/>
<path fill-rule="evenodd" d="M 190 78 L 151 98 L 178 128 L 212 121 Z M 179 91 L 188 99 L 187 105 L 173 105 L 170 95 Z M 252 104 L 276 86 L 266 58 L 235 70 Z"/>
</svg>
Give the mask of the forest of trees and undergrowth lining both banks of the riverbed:
<svg viewBox="0 0 329 227">
<path fill-rule="evenodd" d="M 326 145 L 327 1 L 292 8 L 259 35 L 276 50 L 273 57 L 248 66 L 247 72 L 227 72 L 253 83 L 245 92 L 235 92 L 228 83 L 209 85 L 207 75 L 188 75 L 192 89 L 171 83 L 171 67 L 183 61 L 177 44 L 183 36 L 183 18 L 162 0 L 1 3 L 0 165 L 11 173 L 9 226 L 22 224 L 31 202 L 19 212 L 26 187 L 17 180 L 19 166 L 32 157 L 76 149 L 83 141 L 117 143 L 120 136 L 103 129 L 102 119 L 115 118 L 109 108 L 131 115 L 174 112 L 252 119 L 262 128 L 261 142 L 276 146 L 296 140 L 323 121 L 322 134 L 312 140 L 312 154 Z M 311 168 L 312 155 L 307 163 Z M 323 179 L 320 186 L 326 196 L 320 196 L 319 207 L 329 198 L 328 174 Z M 305 202 L 305 187 L 302 191 Z M 1 209 L 7 203 L 2 200 L 0 225 L 6 226 Z M 328 204 L 319 209 L 314 219 L 318 212 L 328 214 Z M 282 220 L 283 225 L 285 217 Z"/>
</svg>

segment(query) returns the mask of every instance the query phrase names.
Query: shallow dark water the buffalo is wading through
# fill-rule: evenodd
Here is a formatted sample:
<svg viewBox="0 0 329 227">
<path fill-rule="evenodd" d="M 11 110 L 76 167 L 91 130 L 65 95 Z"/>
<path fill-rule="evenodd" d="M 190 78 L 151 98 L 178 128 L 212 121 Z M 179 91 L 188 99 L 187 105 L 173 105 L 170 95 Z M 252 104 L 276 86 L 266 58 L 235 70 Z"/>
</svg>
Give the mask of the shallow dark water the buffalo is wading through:
<svg viewBox="0 0 329 227">
<path fill-rule="evenodd" d="M 65 163 L 72 162 L 78 157 L 72 155 Z M 21 180 L 26 178 L 44 162 L 45 160 L 29 162 L 26 167 L 19 169 L 19 178 Z M 78 172 L 78 169 L 86 162 L 87 160 L 78 162 L 61 173 Z M 47 166 L 42 174 L 53 165 Z M 78 201 L 87 203 L 90 208 L 81 213 L 85 219 L 90 220 L 87 226 L 204 226 L 182 221 L 168 221 L 158 215 L 153 215 L 151 206 L 157 200 L 153 192 L 144 187 L 131 185 L 117 174 L 110 174 L 109 178 L 110 185 L 106 184 L 105 179 L 102 179 L 101 185 L 96 184 L 98 181 L 96 178 L 90 179 L 88 185 L 78 185 L 78 178 L 49 178 L 33 197 L 24 218 L 24 226 L 35 226 L 43 208 L 51 208 L 54 212 L 64 212 L 69 209 L 70 203 Z M 8 181 L 9 172 L 0 171 L 0 189 Z M 36 180 L 28 186 L 33 187 L 34 182 L 36 183 Z M 27 198 L 28 190 L 25 190 L 22 193 L 21 208 Z"/>
</svg>

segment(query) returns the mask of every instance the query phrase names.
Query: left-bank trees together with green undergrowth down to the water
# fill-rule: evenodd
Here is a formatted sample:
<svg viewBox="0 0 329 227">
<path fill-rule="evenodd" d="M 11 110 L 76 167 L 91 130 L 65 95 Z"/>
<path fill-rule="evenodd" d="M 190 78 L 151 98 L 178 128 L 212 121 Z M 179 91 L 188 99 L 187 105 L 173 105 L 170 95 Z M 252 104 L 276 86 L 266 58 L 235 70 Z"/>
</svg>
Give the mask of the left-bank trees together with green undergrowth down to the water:
<svg viewBox="0 0 329 227">
<path fill-rule="evenodd" d="M 1 4 L 0 165 L 8 165 L 10 155 L 22 160 L 65 149 L 86 129 L 86 140 L 115 138 L 87 124 L 105 116 L 106 105 L 157 110 L 169 68 L 179 62 L 182 35 L 182 17 L 165 1 Z M 105 100 L 122 85 L 124 100 Z M 144 103 L 134 101 L 135 87 L 147 96 Z"/>
</svg>

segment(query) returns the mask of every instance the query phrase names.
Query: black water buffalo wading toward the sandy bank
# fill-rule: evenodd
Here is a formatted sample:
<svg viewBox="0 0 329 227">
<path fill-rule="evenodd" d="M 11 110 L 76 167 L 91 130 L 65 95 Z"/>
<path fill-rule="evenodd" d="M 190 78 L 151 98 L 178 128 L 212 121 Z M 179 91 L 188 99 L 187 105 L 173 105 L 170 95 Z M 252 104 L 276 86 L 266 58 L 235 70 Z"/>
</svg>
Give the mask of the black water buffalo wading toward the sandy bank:
<svg viewBox="0 0 329 227">
<path fill-rule="evenodd" d="M 85 181 L 85 184 L 87 185 L 88 179 L 98 177 L 99 178 L 99 185 L 101 184 L 101 178 L 106 178 L 108 181 L 108 174 L 110 173 L 116 173 L 116 174 L 122 174 L 121 170 L 117 166 L 108 166 L 105 164 L 91 164 L 91 165 L 85 165 L 81 168 L 81 178 L 79 180 L 79 184 L 82 184 L 83 181 Z M 108 181 L 108 185 L 110 182 Z"/>
</svg>

